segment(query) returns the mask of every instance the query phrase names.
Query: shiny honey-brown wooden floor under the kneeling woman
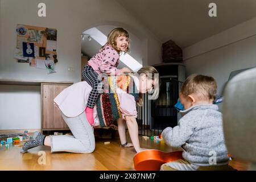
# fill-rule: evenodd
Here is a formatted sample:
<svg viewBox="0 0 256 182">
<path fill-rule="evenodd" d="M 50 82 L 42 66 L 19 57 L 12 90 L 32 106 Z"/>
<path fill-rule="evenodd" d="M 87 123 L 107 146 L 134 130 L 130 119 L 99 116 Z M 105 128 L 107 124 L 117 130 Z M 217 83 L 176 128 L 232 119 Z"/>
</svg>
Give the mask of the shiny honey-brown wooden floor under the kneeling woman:
<svg viewBox="0 0 256 182">
<path fill-rule="evenodd" d="M 175 151 L 166 146 L 163 141 L 156 143 L 150 139 L 139 137 L 141 146 L 162 151 Z M 104 145 L 104 142 L 110 142 Z M 134 170 L 133 156 L 136 154 L 133 147 L 121 148 L 119 139 L 96 140 L 96 149 L 92 154 L 73 154 L 68 152 L 51 153 L 50 147 L 39 146 L 20 154 L 19 146 L 10 144 L 9 150 L 5 146 L 0 148 L 0 170 Z M 177 150 L 177 149 L 176 149 Z M 46 152 L 46 164 L 38 164 L 39 151 Z M 232 160 L 230 166 L 238 170 L 246 170 L 248 164 Z"/>
</svg>

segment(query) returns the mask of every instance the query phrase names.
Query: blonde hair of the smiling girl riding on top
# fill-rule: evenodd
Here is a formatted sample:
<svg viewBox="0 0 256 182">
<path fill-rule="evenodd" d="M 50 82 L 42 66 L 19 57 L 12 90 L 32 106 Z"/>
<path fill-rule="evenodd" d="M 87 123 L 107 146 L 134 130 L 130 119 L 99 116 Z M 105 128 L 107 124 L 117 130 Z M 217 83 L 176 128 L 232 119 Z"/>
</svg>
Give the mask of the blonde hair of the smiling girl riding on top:
<svg viewBox="0 0 256 182">
<path fill-rule="evenodd" d="M 118 28 L 114 28 L 112 31 L 109 32 L 108 35 L 108 42 L 106 44 L 112 46 L 115 51 L 117 51 L 118 53 L 121 52 L 120 49 L 117 48 L 117 38 L 119 36 L 125 36 L 126 38 L 129 38 L 129 33 L 123 29 L 122 27 L 118 27 Z M 106 44 L 104 46 L 106 46 Z M 103 48 L 104 46 L 102 46 L 101 48 Z M 130 43 L 128 44 L 125 53 L 130 51 Z"/>
</svg>

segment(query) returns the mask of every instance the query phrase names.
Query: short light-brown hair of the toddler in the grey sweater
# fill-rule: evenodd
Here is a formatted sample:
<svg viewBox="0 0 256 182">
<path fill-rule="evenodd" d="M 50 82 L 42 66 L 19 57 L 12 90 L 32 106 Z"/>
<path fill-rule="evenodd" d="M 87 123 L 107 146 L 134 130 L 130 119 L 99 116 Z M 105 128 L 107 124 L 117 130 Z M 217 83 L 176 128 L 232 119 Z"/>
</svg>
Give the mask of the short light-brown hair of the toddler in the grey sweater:
<svg viewBox="0 0 256 182">
<path fill-rule="evenodd" d="M 180 93 L 187 97 L 197 94 L 200 99 L 214 100 L 216 98 L 217 83 L 211 76 L 193 74 L 185 80 Z"/>
</svg>

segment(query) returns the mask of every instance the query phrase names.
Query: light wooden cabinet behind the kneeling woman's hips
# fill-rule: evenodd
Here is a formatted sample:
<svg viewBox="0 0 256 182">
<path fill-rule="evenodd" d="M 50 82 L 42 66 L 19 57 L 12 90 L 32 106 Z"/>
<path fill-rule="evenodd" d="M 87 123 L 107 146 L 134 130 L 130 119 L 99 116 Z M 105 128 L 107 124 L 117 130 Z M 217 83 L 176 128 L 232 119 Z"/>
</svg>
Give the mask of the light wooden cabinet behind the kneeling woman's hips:
<svg viewBox="0 0 256 182">
<path fill-rule="evenodd" d="M 53 103 L 54 98 L 65 88 L 72 84 L 42 83 L 42 131 L 68 129 L 60 110 Z"/>
</svg>

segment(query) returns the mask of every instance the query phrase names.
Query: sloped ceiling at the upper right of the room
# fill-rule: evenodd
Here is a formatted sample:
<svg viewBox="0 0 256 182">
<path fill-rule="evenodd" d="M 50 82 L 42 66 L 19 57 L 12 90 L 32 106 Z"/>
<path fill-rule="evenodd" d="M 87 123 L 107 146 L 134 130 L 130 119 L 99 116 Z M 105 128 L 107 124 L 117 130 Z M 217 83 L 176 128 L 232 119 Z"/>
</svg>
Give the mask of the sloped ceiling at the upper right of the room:
<svg viewBox="0 0 256 182">
<path fill-rule="evenodd" d="M 256 16 L 255 0 L 116 0 L 161 42 L 174 40 L 181 48 Z M 209 3 L 217 17 L 209 17 Z"/>
</svg>

